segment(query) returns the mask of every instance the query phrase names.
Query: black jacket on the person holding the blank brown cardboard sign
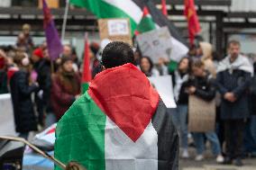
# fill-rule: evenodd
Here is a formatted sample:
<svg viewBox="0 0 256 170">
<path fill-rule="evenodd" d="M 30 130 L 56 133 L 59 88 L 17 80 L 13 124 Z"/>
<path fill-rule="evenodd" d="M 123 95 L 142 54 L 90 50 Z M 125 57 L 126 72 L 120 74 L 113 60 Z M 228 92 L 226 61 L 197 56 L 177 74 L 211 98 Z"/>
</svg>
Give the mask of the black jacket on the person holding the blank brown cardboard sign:
<svg viewBox="0 0 256 170">
<path fill-rule="evenodd" d="M 197 88 L 195 95 L 204 101 L 215 99 L 214 80 L 207 74 L 205 77 L 195 77 L 189 83 Z"/>
</svg>

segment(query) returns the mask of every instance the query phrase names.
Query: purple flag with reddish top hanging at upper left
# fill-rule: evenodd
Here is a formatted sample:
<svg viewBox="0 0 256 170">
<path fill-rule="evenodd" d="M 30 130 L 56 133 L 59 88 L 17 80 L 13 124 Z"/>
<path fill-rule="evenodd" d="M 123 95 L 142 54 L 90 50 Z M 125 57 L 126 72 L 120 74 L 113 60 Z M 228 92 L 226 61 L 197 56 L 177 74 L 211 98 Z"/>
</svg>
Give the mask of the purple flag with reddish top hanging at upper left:
<svg viewBox="0 0 256 170">
<path fill-rule="evenodd" d="M 54 21 L 52 20 L 52 15 L 50 14 L 50 9 L 46 4 L 45 0 L 42 0 L 43 4 L 43 29 L 46 36 L 47 47 L 49 50 L 49 55 L 51 60 L 59 58 L 59 54 L 62 52 L 63 47 L 61 41 L 59 40 L 58 31 L 55 28 Z"/>
</svg>

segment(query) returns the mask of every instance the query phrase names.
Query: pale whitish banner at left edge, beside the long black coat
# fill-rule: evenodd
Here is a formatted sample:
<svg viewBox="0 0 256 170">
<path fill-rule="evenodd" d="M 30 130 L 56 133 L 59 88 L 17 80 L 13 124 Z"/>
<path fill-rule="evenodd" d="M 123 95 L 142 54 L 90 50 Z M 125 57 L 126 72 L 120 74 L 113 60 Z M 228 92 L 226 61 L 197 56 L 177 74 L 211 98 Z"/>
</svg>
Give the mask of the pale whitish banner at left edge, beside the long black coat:
<svg viewBox="0 0 256 170">
<path fill-rule="evenodd" d="M 10 94 L 0 94 L 0 135 L 15 135 L 14 112 Z"/>
</svg>

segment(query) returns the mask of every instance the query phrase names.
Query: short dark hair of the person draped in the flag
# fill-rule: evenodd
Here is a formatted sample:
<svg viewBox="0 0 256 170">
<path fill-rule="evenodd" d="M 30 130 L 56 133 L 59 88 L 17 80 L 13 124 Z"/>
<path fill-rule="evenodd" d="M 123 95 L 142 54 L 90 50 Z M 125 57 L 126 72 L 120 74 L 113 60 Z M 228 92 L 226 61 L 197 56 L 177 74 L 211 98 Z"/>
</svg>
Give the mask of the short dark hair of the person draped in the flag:
<svg viewBox="0 0 256 170">
<path fill-rule="evenodd" d="M 119 67 L 126 63 L 134 64 L 132 47 L 121 41 L 110 42 L 102 53 L 102 65 L 105 68 Z"/>
</svg>

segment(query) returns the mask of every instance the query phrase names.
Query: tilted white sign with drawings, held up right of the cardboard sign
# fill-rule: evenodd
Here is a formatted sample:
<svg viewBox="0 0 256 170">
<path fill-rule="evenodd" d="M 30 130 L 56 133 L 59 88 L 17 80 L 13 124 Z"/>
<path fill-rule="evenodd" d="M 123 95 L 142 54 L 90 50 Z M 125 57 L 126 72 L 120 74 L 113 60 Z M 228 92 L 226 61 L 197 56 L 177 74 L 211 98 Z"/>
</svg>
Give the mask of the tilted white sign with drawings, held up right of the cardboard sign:
<svg viewBox="0 0 256 170">
<path fill-rule="evenodd" d="M 137 36 L 137 41 L 142 56 L 150 57 L 154 63 L 157 63 L 159 58 L 180 60 L 180 57 L 173 52 L 173 42 L 167 27 L 142 33 Z"/>
</svg>

